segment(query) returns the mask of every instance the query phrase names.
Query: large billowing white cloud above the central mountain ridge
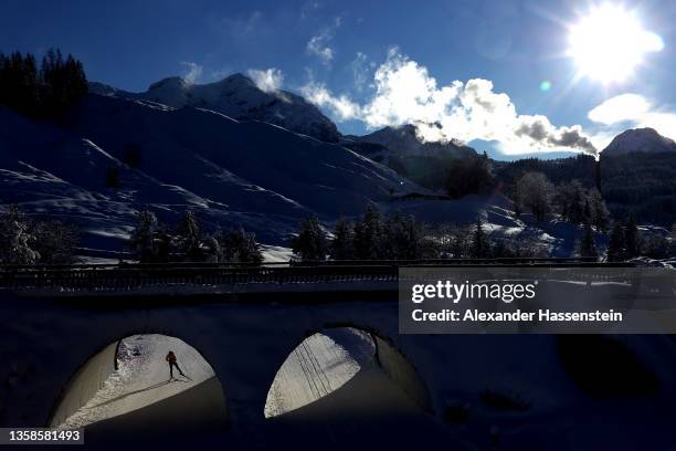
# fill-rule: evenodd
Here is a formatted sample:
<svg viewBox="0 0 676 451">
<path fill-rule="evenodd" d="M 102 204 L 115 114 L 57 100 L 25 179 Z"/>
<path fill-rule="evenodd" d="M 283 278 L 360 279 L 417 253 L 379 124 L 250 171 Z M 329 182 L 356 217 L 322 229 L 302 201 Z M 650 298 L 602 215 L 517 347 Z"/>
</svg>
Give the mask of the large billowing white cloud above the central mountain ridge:
<svg viewBox="0 0 676 451">
<path fill-rule="evenodd" d="M 359 119 L 369 128 L 414 124 L 422 140 L 508 143 L 509 148 L 596 153 L 579 125 L 556 127 L 545 116 L 518 115 L 505 93 L 495 93 L 488 80 L 454 81 L 440 86 L 427 69 L 391 49 L 373 76 L 373 96 L 359 105 L 335 96 L 315 82 L 304 94 L 328 107 L 339 120 Z"/>
</svg>

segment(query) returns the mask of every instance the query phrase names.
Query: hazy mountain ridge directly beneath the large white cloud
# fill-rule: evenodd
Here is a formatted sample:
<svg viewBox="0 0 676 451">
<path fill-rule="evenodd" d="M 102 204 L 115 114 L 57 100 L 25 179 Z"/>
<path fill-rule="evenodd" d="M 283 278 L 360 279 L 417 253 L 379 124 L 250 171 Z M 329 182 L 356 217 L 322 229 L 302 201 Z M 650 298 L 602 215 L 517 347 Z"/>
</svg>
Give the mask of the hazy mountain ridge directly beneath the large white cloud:
<svg viewBox="0 0 676 451">
<path fill-rule="evenodd" d="M 362 150 L 371 157 L 435 157 L 435 158 L 466 158 L 476 155 L 472 147 L 462 144 L 448 143 L 423 143 L 415 133 L 415 126 L 411 124 L 401 127 L 384 127 L 365 136 L 346 137 L 350 143 L 367 144 L 356 150 Z"/>
</svg>

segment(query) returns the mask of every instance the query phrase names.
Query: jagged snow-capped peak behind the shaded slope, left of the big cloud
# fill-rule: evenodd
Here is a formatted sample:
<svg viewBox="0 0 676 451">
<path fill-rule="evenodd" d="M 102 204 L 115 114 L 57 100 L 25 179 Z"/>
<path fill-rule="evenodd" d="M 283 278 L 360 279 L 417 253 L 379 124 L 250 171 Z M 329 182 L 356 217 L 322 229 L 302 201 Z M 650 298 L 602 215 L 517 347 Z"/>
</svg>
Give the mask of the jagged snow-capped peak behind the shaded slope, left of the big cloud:
<svg viewBox="0 0 676 451">
<path fill-rule="evenodd" d="M 151 84 L 144 93 L 129 93 L 101 83 L 91 83 L 89 92 L 146 99 L 173 107 L 212 109 L 237 120 L 262 120 L 327 143 L 336 143 L 340 138 L 336 125 L 305 98 L 286 91 L 265 92 L 242 74 L 233 74 L 209 84 L 191 84 L 173 76 Z"/>
</svg>

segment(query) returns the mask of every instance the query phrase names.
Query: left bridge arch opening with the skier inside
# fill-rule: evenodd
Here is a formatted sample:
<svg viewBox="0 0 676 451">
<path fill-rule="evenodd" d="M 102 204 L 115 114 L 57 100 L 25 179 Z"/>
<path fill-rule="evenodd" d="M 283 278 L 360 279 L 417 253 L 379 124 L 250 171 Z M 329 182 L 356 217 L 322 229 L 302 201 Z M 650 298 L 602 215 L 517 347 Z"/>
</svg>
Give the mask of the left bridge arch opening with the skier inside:
<svg viewBox="0 0 676 451">
<path fill-rule="evenodd" d="M 176 356 L 170 366 L 168 353 Z M 215 430 L 226 424 L 221 382 L 211 365 L 180 338 L 122 338 L 71 378 L 51 419 L 57 429 L 101 433 Z"/>
</svg>

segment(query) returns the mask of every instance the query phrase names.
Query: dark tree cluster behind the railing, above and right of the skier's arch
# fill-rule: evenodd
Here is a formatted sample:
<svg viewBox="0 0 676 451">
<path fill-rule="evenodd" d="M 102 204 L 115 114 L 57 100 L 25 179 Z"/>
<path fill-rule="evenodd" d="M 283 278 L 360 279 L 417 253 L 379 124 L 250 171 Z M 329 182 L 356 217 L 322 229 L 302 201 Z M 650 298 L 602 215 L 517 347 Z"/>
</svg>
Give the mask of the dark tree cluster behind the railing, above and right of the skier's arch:
<svg viewBox="0 0 676 451">
<path fill-rule="evenodd" d="M 173 228 L 160 222 L 148 209 L 139 211 L 128 245 L 141 263 L 263 262 L 261 245 L 254 233 L 246 232 L 241 227 L 228 232 L 219 229 L 213 233 L 205 233 L 190 210 L 183 212 Z"/>
</svg>

